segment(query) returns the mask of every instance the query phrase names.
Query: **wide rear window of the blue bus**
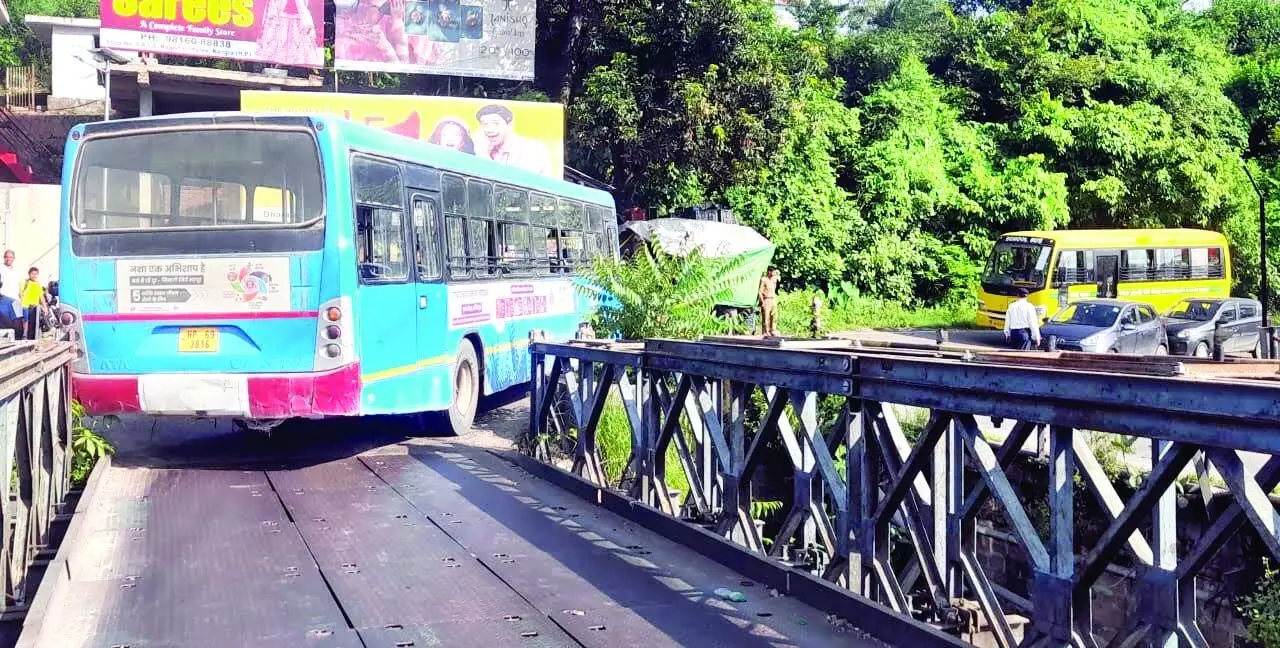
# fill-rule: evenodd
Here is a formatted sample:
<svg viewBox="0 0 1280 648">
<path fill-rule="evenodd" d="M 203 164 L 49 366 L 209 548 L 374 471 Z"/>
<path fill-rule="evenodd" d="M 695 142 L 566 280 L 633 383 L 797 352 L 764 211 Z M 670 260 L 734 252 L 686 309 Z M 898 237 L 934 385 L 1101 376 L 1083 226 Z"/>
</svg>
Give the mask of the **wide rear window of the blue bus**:
<svg viewBox="0 0 1280 648">
<path fill-rule="evenodd" d="M 72 224 L 82 233 L 298 227 L 324 215 L 320 158 L 301 131 L 95 138 L 76 169 Z"/>
</svg>

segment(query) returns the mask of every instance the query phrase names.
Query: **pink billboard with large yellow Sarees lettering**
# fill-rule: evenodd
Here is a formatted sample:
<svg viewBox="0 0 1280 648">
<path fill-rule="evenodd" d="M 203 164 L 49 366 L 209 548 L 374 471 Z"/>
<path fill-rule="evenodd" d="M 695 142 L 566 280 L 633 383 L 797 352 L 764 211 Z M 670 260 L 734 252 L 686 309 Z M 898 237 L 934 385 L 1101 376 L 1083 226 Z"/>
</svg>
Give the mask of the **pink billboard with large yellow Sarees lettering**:
<svg viewBox="0 0 1280 648">
<path fill-rule="evenodd" d="M 102 0 L 102 47 L 324 67 L 321 0 Z"/>
</svg>

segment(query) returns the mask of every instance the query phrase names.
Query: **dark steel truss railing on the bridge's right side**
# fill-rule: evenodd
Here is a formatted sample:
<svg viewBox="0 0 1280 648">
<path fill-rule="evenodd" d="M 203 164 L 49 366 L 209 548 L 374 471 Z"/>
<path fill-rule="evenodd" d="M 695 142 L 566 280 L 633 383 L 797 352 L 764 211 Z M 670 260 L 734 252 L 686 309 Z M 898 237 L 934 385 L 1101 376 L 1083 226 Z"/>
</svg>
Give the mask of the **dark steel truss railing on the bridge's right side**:
<svg viewBox="0 0 1280 648">
<path fill-rule="evenodd" d="M 1280 383 L 678 341 L 535 343 L 531 360 L 522 451 L 536 461 L 526 465 L 576 475 L 562 483 L 893 644 L 980 629 L 1005 648 L 1143 638 L 1208 648 L 1196 579 L 1210 560 L 1244 525 L 1280 557 L 1267 497 L 1280 484 Z M 600 434 L 607 409 L 625 411 L 621 469 L 602 462 L 600 444 L 616 443 Z M 913 429 L 906 409 L 924 412 Z M 1091 442 L 1100 432 L 1151 444 L 1149 473 L 1126 498 Z M 1033 511 L 1011 473 L 1037 442 L 1048 485 Z M 773 497 L 781 524 L 762 528 L 753 512 L 777 461 L 791 492 Z M 1179 552 L 1174 487 L 1189 470 L 1206 485 L 1216 473 L 1229 503 L 1210 507 L 1206 531 Z M 677 474 L 686 492 L 671 492 Z M 1094 538 L 1075 537 L 1076 480 L 1102 511 Z M 1024 583 L 988 574 L 979 514 L 1002 520 L 1025 553 Z M 717 548 L 712 534 L 730 542 Z M 1120 558 L 1135 567 L 1140 602 L 1129 628 L 1101 636 L 1093 590 Z"/>
</svg>

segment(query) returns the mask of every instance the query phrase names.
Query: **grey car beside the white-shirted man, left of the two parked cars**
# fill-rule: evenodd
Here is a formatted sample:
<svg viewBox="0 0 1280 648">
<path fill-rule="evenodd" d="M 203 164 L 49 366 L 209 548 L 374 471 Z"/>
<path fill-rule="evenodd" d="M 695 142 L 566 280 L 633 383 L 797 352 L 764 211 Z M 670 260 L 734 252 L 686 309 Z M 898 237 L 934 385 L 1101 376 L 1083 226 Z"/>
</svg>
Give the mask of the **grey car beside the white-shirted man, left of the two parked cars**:
<svg viewBox="0 0 1280 648">
<path fill-rule="evenodd" d="M 1169 338 L 1156 309 L 1132 301 L 1080 300 L 1057 311 L 1041 328 L 1053 348 L 1091 353 L 1169 353 Z"/>
</svg>

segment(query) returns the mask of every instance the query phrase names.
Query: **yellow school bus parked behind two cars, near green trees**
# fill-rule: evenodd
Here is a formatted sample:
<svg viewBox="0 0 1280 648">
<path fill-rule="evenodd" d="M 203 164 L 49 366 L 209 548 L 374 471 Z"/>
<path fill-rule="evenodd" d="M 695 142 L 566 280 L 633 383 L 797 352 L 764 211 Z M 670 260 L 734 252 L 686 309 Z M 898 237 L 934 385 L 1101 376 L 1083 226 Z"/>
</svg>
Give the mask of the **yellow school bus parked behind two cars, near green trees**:
<svg viewBox="0 0 1280 648">
<path fill-rule="evenodd" d="M 1165 312 L 1184 297 L 1228 297 L 1226 237 L 1203 229 L 1012 232 L 991 252 L 978 292 L 978 325 L 1004 328 L 1027 288 L 1041 319 L 1078 300 L 1111 297 Z"/>
</svg>

